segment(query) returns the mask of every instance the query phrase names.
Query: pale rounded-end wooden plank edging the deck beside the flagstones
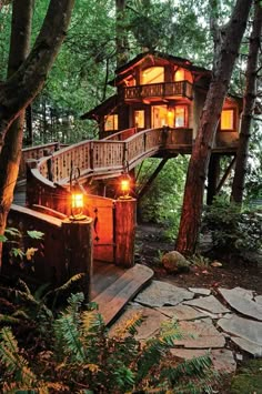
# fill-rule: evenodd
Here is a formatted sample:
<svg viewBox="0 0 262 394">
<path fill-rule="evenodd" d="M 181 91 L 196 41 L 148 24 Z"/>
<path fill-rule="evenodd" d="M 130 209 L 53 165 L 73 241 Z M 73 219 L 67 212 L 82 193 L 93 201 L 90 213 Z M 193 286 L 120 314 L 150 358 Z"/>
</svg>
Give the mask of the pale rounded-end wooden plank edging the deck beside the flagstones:
<svg viewBox="0 0 262 394">
<path fill-rule="evenodd" d="M 153 277 L 148 266 L 137 264 L 121 275 L 92 302 L 99 305 L 104 323 L 109 324 L 122 307 Z"/>
</svg>

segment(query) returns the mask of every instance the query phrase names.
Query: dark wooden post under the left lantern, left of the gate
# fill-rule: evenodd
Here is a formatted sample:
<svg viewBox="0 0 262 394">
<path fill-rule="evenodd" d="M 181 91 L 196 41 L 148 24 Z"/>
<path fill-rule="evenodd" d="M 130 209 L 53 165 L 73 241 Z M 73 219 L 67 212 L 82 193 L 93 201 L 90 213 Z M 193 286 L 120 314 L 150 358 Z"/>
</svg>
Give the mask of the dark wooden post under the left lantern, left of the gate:
<svg viewBox="0 0 262 394">
<path fill-rule="evenodd" d="M 64 244 L 66 280 L 78 273 L 84 273 L 81 290 L 87 301 L 91 296 L 91 279 L 93 271 L 92 219 L 81 221 L 66 219 L 62 222 Z"/>
</svg>

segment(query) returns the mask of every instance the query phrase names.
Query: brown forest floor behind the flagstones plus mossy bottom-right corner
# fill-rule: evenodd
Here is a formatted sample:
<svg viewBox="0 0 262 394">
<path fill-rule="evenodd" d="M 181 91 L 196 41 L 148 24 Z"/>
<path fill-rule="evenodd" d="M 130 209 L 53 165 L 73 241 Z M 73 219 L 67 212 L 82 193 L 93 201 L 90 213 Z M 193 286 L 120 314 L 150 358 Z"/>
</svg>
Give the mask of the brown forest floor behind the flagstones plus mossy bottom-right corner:
<svg viewBox="0 0 262 394">
<path fill-rule="evenodd" d="M 213 260 L 196 257 L 196 264 L 192 264 L 189 272 L 170 274 L 161 264 L 162 255 L 174 250 L 174 241 L 172 242 L 165 236 L 165 229 L 155 224 L 140 224 L 137 229 L 135 262 L 150 266 L 154 271 L 157 280 L 184 289 L 205 287 L 211 290 L 218 299 L 221 299 L 218 287 L 233 289 L 239 286 L 254 291 L 256 295 L 262 294 L 262 253 L 250 254 L 249 263 L 244 260 L 232 261 L 228 259 L 229 256 L 222 259 L 215 255 Z M 211 246 L 210 241 L 210 239 L 202 239 L 201 255 L 205 255 Z M 214 261 L 221 263 L 221 265 L 212 266 Z M 240 352 L 234 344 L 231 344 L 231 346 L 233 352 Z M 224 375 L 221 384 L 215 387 L 215 393 L 262 394 L 261 358 L 252 360 L 252 356 L 245 352 L 242 352 L 241 357 L 236 362 L 236 374 Z M 253 365 L 252 363 L 256 364 Z M 254 373 L 255 368 L 259 372 Z M 244 370 L 244 375 L 242 370 Z M 232 388 L 233 386 L 236 388 Z"/>
</svg>

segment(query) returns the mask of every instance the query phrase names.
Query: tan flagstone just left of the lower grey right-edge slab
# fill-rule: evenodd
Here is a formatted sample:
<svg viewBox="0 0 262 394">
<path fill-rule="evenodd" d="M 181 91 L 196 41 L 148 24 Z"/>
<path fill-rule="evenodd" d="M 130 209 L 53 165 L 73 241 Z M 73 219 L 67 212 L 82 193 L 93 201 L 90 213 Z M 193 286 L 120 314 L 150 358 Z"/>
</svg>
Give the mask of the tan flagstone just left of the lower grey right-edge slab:
<svg viewBox="0 0 262 394">
<path fill-rule="evenodd" d="M 223 347 L 225 340 L 213 325 L 211 319 L 201 319 L 194 322 L 181 321 L 181 333 L 187 334 L 187 337 L 175 341 L 178 346 L 190 348 L 212 348 Z"/>
</svg>

